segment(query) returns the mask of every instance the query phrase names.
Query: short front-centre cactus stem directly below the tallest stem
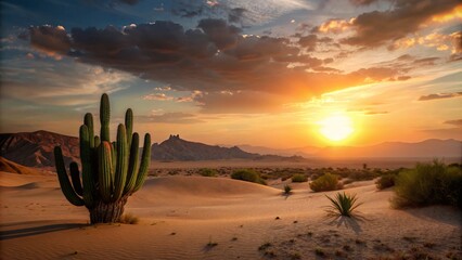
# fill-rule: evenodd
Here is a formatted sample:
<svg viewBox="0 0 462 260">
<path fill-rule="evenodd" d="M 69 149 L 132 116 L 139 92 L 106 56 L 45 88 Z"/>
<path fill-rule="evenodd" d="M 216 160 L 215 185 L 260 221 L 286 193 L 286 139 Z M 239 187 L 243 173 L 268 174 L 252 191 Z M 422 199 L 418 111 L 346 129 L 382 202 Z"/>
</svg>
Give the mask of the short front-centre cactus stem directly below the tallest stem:
<svg viewBox="0 0 462 260">
<path fill-rule="evenodd" d="M 111 144 L 107 141 L 103 141 L 98 152 L 100 195 L 103 202 L 110 203 L 113 190 Z"/>
</svg>

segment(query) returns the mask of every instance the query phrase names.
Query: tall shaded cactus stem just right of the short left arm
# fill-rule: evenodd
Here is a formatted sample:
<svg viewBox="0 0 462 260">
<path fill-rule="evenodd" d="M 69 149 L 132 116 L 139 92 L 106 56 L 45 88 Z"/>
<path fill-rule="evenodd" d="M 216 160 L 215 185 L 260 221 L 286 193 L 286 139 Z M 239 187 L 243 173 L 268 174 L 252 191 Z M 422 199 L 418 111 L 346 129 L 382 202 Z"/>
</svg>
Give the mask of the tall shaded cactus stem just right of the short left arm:
<svg viewBox="0 0 462 260">
<path fill-rule="evenodd" d="M 86 117 L 87 118 L 87 117 Z M 90 135 L 88 125 L 81 125 L 79 131 L 80 139 L 80 161 L 81 161 L 81 180 L 84 182 L 84 202 L 87 208 L 93 206 L 93 194 L 95 192 L 93 171 L 94 158 L 90 140 L 94 138 Z M 94 145 L 94 143 L 93 143 Z"/>
</svg>

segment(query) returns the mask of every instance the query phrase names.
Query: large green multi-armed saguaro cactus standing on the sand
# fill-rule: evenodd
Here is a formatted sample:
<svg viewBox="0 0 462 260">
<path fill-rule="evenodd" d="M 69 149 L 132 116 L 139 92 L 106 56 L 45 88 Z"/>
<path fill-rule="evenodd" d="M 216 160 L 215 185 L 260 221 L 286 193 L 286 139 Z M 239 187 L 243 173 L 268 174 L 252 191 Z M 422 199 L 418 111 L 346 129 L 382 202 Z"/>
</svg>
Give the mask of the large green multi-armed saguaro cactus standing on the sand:
<svg viewBox="0 0 462 260">
<path fill-rule="evenodd" d="M 94 135 L 93 116 L 87 113 L 80 126 L 81 180 L 78 164 L 69 165 L 70 179 L 64 166 L 61 146 L 54 147 L 54 159 L 61 190 L 75 206 L 86 206 L 91 223 L 118 222 L 128 197 L 141 188 L 151 161 L 151 135 L 144 135 L 144 146 L 138 167 L 139 135 L 132 133 L 133 113 L 125 115 L 125 125 L 117 128 L 117 140 L 110 140 L 110 99 L 101 96 L 101 138 Z"/>
</svg>

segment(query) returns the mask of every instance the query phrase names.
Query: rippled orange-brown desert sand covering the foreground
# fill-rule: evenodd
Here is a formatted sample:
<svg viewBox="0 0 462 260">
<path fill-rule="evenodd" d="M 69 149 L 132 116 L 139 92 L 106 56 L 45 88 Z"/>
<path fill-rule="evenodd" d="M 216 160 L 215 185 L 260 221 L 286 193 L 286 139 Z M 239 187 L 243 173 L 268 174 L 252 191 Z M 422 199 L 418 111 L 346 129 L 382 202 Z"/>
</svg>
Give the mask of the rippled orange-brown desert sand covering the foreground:
<svg viewBox="0 0 462 260">
<path fill-rule="evenodd" d="M 359 196 L 364 219 L 332 219 L 324 194 L 335 192 L 293 187 L 283 196 L 281 184 L 152 178 L 126 206 L 139 224 L 88 225 L 55 177 L 0 172 L 0 259 L 462 258 L 458 209 L 392 209 L 393 191 L 368 181 L 345 190 Z"/>
</svg>

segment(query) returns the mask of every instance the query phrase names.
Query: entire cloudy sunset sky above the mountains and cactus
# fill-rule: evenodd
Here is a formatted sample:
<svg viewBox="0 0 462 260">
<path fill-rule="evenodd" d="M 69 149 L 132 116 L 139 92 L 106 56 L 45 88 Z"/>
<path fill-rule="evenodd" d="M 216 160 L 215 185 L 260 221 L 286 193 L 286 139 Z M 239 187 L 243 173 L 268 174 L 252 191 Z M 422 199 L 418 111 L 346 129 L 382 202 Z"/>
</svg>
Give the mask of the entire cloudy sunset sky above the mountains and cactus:
<svg viewBox="0 0 462 260">
<path fill-rule="evenodd" d="M 131 107 L 134 130 L 154 142 L 462 140 L 459 0 L 0 5 L 0 132 L 76 136 L 108 93 L 112 129 Z M 348 133 L 341 140 L 322 130 L 333 120 L 331 131 Z"/>
</svg>

